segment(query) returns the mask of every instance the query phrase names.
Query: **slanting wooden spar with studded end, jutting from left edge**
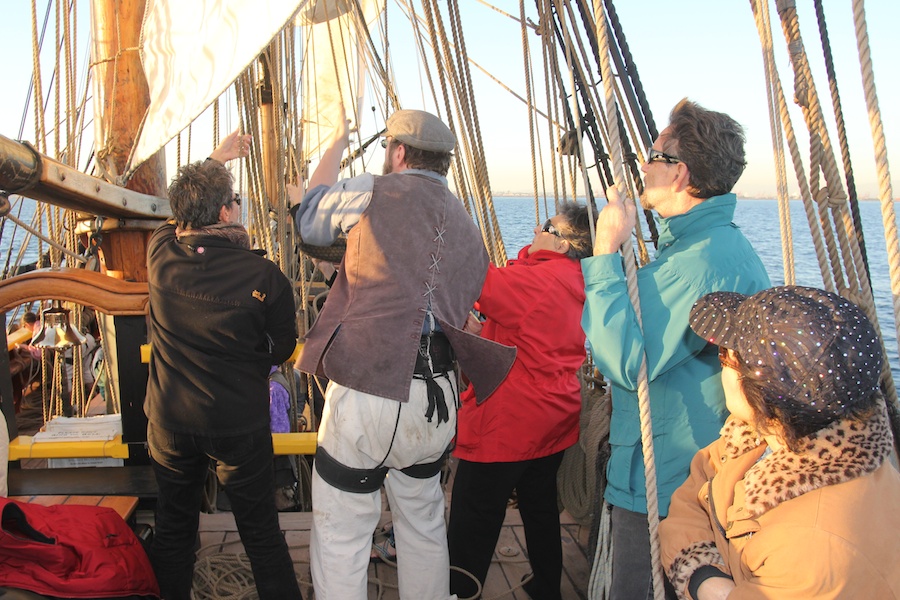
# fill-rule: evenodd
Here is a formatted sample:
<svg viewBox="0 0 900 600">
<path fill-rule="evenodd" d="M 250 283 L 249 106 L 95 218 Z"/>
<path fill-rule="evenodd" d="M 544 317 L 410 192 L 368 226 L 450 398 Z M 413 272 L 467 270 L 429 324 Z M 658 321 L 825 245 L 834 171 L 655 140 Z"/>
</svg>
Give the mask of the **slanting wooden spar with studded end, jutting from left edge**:
<svg viewBox="0 0 900 600">
<path fill-rule="evenodd" d="M 0 189 L 103 217 L 167 219 L 165 198 L 128 190 L 86 175 L 32 146 L 0 135 Z"/>
</svg>

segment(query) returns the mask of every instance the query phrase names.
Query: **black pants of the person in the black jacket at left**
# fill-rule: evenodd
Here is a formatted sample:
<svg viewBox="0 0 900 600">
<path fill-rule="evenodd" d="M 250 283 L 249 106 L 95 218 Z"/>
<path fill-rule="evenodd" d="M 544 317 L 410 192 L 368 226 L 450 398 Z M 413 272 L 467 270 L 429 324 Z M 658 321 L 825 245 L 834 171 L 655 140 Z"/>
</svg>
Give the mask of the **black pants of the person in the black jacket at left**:
<svg viewBox="0 0 900 600">
<path fill-rule="evenodd" d="M 203 437 L 150 424 L 147 442 L 159 498 L 150 560 L 165 600 L 188 600 L 194 573 L 200 503 L 210 458 L 228 490 L 260 599 L 302 598 L 275 510 L 269 428 Z"/>
</svg>

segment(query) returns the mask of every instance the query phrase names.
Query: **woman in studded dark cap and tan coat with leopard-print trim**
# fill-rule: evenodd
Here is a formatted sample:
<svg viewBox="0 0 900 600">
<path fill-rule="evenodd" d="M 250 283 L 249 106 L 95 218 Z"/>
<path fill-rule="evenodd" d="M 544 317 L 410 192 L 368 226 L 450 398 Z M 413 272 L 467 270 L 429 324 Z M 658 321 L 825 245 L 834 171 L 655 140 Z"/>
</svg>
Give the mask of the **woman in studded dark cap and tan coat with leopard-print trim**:
<svg viewBox="0 0 900 600">
<path fill-rule="evenodd" d="M 797 286 L 709 294 L 731 417 L 660 525 L 679 598 L 900 597 L 900 475 L 881 341 L 856 305 Z"/>
</svg>

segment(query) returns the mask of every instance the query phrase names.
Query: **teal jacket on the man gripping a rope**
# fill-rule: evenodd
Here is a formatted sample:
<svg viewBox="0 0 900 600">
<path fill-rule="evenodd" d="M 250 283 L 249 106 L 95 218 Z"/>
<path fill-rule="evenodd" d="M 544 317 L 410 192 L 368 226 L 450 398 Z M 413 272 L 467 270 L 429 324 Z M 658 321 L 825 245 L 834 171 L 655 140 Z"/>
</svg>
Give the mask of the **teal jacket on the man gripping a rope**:
<svg viewBox="0 0 900 600">
<path fill-rule="evenodd" d="M 732 223 L 734 194 L 713 196 L 688 212 L 659 218 L 656 260 L 638 270 L 641 317 L 628 298 L 622 258 L 586 258 L 582 327 L 594 363 L 611 383 L 611 454 L 605 498 L 647 512 L 638 372 L 647 354 L 660 516 L 690 472 L 694 454 L 719 435 L 727 410 L 718 348 L 688 325 L 691 307 L 717 291 L 753 294 L 769 287 L 762 261 Z"/>
</svg>

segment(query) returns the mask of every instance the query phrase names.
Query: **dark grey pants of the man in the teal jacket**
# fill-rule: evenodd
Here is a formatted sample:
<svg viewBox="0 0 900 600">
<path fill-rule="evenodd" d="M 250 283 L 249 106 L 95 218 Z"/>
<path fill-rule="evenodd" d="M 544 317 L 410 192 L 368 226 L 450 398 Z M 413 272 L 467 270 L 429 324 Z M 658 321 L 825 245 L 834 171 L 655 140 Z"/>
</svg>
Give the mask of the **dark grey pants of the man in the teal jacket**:
<svg viewBox="0 0 900 600">
<path fill-rule="evenodd" d="M 613 564 L 609 600 L 652 598 L 653 568 L 647 515 L 613 506 L 610 522 Z M 675 598 L 675 589 L 665 576 L 663 584 L 666 598 Z"/>
</svg>

